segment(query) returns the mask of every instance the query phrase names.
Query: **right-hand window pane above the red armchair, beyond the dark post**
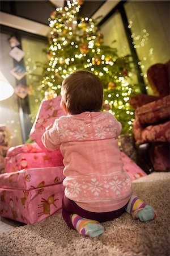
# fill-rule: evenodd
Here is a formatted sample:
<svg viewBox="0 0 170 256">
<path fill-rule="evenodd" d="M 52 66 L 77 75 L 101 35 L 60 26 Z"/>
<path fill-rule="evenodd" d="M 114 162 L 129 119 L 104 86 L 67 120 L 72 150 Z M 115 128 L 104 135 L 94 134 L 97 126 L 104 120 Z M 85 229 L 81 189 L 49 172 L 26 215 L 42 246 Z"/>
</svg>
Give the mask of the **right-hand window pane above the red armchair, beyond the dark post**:
<svg viewBox="0 0 170 256">
<path fill-rule="evenodd" d="M 131 37 L 137 51 L 142 75 L 147 82 L 147 69 L 169 60 L 169 2 L 127 1 L 125 10 Z M 151 89 L 148 93 L 152 93 Z"/>
</svg>

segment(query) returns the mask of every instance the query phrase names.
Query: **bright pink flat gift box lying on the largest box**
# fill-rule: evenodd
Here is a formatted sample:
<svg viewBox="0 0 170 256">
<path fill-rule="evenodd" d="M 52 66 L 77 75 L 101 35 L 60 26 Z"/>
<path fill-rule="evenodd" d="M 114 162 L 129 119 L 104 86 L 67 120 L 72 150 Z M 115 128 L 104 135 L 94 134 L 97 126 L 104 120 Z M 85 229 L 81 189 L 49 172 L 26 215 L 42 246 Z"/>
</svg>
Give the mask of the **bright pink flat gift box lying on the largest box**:
<svg viewBox="0 0 170 256">
<path fill-rule="evenodd" d="M 36 167 L 54 167 L 63 164 L 63 157 L 59 151 L 56 152 L 55 159 L 56 165 L 54 165 L 52 157 L 42 152 L 42 149 L 36 143 L 11 147 L 5 158 L 5 172 Z"/>
</svg>

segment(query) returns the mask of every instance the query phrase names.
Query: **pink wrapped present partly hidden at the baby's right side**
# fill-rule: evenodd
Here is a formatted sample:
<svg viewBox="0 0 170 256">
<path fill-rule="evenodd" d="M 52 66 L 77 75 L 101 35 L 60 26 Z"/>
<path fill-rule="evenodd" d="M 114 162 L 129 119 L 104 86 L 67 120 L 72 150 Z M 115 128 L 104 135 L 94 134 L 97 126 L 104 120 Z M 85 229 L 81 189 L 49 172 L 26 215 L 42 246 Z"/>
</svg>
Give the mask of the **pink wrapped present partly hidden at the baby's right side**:
<svg viewBox="0 0 170 256">
<path fill-rule="evenodd" d="M 130 176 L 131 181 L 139 179 L 139 177 L 146 176 L 144 172 L 133 160 L 131 160 L 128 155 L 121 152 L 122 160 L 124 162 L 124 170 Z"/>
</svg>

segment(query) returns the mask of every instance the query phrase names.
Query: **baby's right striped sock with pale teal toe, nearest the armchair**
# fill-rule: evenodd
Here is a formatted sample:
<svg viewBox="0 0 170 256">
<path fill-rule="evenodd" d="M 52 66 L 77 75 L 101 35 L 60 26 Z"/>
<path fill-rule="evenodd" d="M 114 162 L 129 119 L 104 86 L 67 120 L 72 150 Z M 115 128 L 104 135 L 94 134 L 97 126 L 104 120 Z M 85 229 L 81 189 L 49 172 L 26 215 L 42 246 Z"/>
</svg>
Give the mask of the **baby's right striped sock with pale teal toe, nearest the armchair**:
<svg viewBox="0 0 170 256">
<path fill-rule="evenodd" d="M 156 218 L 154 209 L 134 195 L 132 195 L 129 200 L 126 212 L 130 213 L 134 219 L 139 218 L 139 220 L 143 222 Z"/>
</svg>

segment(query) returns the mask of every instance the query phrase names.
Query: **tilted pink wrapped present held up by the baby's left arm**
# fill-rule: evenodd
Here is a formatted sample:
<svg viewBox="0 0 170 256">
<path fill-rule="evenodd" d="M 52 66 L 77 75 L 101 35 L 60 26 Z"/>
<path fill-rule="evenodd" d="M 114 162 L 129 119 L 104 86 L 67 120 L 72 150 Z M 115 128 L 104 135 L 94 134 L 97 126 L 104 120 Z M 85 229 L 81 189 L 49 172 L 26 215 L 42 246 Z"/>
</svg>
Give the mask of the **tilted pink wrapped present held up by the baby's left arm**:
<svg viewBox="0 0 170 256">
<path fill-rule="evenodd" d="M 45 128 L 54 123 L 54 121 L 61 117 L 62 115 L 66 115 L 63 109 L 60 107 L 61 96 L 57 96 L 48 101 L 42 101 L 39 112 L 37 113 L 36 120 L 32 126 L 30 137 L 36 141 L 36 143 L 40 146 L 43 152 L 46 153 L 50 158 L 52 158 L 52 162 L 54 166 L 58 165 L 58 157 L 60 155 L 59 160 L 63 160 L 63 157 L 59 150 L 49 150 L 44 147 L 41 141 L 42 134 L 45 131 Z"/>
</svg>

